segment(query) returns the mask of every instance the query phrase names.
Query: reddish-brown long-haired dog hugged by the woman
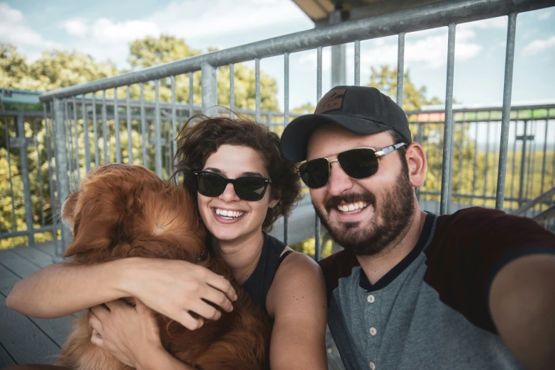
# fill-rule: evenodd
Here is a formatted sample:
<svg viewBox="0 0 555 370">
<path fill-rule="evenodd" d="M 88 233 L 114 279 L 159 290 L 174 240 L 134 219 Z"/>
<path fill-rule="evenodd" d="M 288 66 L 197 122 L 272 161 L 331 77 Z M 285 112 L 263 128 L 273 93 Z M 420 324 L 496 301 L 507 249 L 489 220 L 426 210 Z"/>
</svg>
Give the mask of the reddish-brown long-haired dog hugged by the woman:
<svg viewBox="0 0 555 370">
<path fill-rule="evenodd" d="M 169 184 L 144 167 L 107 164 L 87 174 L 81 189 L 67 198 L 62 220 L 74 240 L 65 257 L 94 264 L 124 257 L 183 259 L 196 262 L 232 281 L 237 292 L 231 313 L 205 320 L 198 330 L 155 313 L 164 348 L 198 369 L 267 367 L 269 319 L 235 284 L 225 263 L 205 250 L 206 231 L 184 189 Z M 81 315 L 62 348 L 61 366 L 76 370 L 130 369 L 91 344 L 89 315 Z"/>
</svg>

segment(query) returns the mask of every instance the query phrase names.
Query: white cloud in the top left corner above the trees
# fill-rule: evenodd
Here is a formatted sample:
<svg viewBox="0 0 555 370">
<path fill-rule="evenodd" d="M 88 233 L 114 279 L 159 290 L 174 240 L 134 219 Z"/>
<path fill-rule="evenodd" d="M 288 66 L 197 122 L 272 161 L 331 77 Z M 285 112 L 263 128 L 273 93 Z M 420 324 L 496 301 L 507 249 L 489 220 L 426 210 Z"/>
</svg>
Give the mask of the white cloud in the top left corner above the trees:
<svg viewBox="0 0 555 370">
<path fill-rule="evenodd" d="M 13 43 L 18 47 L 43 47 L 50 49 L 60 45 L 45 40 L 40 33 L 30 28 L 18 9 L 9 4 L 0 3 L 0 40 Z"/>
</svg>

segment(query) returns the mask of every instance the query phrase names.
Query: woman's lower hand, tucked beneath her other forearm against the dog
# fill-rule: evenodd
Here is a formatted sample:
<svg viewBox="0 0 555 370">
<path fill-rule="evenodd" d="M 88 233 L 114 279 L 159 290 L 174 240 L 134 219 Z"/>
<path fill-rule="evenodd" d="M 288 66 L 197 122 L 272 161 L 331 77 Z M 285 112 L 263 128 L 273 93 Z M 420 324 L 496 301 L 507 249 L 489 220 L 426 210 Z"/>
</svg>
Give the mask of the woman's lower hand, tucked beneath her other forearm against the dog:
<svg viewBox="0 0 555 370">
<path fill-rule="evenodd" d="M 135 308 L 123 301 L 91 308 L 92 344 L 133 368 L 163 356 L 165 349 L 152 311 L 137 300 Z"/>
</svg>

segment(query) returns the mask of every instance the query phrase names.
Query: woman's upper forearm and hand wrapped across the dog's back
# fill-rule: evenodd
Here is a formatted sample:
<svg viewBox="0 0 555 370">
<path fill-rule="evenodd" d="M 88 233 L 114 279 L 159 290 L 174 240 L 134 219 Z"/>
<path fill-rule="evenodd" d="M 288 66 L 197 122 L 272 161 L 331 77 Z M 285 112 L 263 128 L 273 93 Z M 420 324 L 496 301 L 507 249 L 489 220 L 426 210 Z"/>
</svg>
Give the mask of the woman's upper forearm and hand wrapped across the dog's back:
<svg viewBox="0 0 555 370">
<path fill-rule="evenodd" d="M 125 258 L 92 265 L 54 264 L 19 281 L 6 300 L 13 310 L 37 318 L 55 318 L 118 298 L 133 296 L 190 330 L 220 311 L 205 301 L 232 310 L 237 299 L 230 282 L 185 261 Z"/>
</svg>

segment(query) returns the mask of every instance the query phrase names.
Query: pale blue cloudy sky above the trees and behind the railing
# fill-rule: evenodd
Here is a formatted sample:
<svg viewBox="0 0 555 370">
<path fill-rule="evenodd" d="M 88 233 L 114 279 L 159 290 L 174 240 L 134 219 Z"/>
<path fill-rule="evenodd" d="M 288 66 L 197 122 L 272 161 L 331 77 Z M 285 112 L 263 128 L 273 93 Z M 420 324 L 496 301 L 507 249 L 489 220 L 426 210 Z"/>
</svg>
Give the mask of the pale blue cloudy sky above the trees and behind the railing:
<svg viewBox="0 0 555 370">
<path fill-rule="evenodd" d="M 29 62 L 52 48 L 77 50 L 128 68 L 131 41 L 161 33 L 184 38 L 206 51 L 244 45 L 313 28 L 290 0 L 0 0 L 0 42 L 12 43 Z M 456 28 L 454 98 L 464 106 L 503 101 L 507 17 L 462 23 Z M 445 99 L 447 27 L 405 36 L 405 70 L 428 97 Z M 396 67 L 397 36 L 361 42 L 361 84 L 370 68 Z M 254 62 L 247 62 L 254 67 Z M 282 56 L 261 61 L 278 82 L 284 101 Z M 347 45 L 347 84 L 354 83 L 354 46 Z M 517 17 L 512 104 L 555 103 L 555 7 Z M 323 50 L 323 92 L 331 86 L 330 47 Z M 316 103 L 316 51 L 290 56 L 290 108 Z"/>
</svg>

